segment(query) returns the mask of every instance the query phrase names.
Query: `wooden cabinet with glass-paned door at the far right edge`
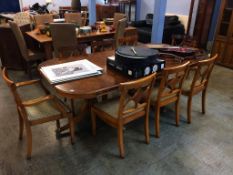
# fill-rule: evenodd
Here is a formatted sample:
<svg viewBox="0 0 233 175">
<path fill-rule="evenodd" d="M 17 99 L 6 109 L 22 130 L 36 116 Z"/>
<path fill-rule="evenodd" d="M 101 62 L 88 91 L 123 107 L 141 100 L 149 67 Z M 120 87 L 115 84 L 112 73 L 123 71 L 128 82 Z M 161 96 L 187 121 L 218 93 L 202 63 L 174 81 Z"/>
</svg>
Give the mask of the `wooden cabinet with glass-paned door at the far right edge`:
<svg viewBox="0 0 233 175">
<path fill-rule="evenodd" d="M 218 63 L 233 68 L 233 1 L 223 0 L 214 41 L 213 54 Z"/>
</svg>

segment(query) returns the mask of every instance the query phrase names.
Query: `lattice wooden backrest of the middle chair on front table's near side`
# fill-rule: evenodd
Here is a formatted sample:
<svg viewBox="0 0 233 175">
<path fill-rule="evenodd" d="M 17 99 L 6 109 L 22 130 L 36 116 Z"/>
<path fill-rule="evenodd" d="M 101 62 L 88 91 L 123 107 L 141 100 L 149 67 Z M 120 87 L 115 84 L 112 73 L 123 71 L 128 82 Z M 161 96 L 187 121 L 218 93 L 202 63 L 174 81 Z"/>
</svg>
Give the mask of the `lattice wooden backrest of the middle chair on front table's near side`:
<svg viewBox="0 0 233 175">
<path fill-rule="evenodd" d="M 189 61 L 182 65 L 163 69 L 157 96 L 159 106 L 167 105 L 179 99 L 188 64 Z"/>
</svg>

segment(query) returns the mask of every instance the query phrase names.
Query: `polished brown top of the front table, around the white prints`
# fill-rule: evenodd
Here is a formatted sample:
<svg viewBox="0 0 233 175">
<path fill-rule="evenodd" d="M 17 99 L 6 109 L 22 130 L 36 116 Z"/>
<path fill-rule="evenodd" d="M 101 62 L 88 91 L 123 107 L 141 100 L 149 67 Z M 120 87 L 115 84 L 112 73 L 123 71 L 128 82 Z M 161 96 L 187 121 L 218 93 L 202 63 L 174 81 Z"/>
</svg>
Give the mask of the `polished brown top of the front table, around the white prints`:
<svg viewBox="0 0 233 175">
<path fill-rule="evenodd" d="M 57 93 L 61 96 L 71 99 L 90 99 L 96 97 L 99 94 L 116 89 L 119 87 L 120 83 L 124 83 L 130 80 L 129 77 L 126 77 L 107 67 L 107 57 L 112 55 L 114 55 L 114 51 L 99 52 L 87 56 L 73 57 L 60 61 L 57 59 L 51 59 L 43 62 L 40 67 L 79 59 L 88 59 L 92 63 L 102 67 L 102 75 L 52 85 L 56 89 Z"/>
</svg>

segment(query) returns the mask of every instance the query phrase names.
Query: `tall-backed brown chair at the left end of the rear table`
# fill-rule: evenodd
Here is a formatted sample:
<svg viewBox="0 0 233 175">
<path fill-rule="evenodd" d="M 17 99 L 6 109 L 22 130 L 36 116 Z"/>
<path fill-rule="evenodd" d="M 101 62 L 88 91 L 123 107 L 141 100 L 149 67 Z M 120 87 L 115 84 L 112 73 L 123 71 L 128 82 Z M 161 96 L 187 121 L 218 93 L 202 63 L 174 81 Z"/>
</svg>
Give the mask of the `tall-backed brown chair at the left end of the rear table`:
<svg viewBox="0 0 233 175">
<path fill-rule="evenodd" d="M 9 24 L 18 43 L 22 57 L 26 63 L 25 71 L 29 74 L 29 77 L 32 78 L 32 69 L 34 68 L 35 63 L 37 65 L 41 61 L 45 60 L 45 54 L 28 49 L 19 26 L 13 21 L 9 21 Z"/>
</svg>

